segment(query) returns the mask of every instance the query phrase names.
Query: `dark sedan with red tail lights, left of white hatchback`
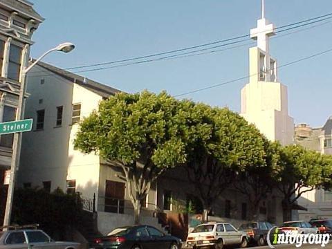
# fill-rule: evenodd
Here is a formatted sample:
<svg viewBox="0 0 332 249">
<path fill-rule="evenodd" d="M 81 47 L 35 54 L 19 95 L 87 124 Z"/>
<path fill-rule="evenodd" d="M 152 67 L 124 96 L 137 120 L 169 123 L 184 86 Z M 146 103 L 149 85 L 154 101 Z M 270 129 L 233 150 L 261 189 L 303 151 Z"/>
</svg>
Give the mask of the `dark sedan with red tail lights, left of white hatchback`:
<svg viewBox="0 0 332 249">
<path fill-rule="evenodd" d="M 150 225 L 116 228 L 107 236 L 94 239 L 91 248 L 113 249 L 178 249 L 181 239 L 166 235 Z"/>
</svg>

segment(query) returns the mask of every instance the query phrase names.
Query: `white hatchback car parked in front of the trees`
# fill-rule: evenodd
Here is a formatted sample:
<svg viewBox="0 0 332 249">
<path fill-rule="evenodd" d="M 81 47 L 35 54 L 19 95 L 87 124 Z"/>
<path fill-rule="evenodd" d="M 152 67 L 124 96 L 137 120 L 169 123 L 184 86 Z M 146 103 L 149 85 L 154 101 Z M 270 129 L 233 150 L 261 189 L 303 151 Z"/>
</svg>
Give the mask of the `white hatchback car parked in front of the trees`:
<svg viewBox="0 0 332 249">
<path fill-rule="evenodd" d="M 224 245 L 248 246 L 246 232 L 238 231 L 230 223 L 205 223 L 198 225 L 187 237 L 186 248 L 214 246 L 221 249 Z"/>
</svg>

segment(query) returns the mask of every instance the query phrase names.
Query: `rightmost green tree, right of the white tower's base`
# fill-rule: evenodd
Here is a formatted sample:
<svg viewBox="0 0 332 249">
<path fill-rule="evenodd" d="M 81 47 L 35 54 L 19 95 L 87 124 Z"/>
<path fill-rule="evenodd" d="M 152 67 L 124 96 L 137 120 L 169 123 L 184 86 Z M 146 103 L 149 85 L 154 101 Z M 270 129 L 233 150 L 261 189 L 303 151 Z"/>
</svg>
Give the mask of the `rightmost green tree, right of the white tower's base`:
<svg viewBox="0 0 332 249">
<path fill-rule="evenodd" d="M 279 151 L 279 169 L 275 177 L 276 186 L 282 192 L 284 220 L 291 220 L 293 204 L 305 192 L 322 187 L 326 182 L 326 160 L 315 151 L 299 145 L 288 145 Z M 325 173 L 324 173 L 325 172 Z"/>
</svg>

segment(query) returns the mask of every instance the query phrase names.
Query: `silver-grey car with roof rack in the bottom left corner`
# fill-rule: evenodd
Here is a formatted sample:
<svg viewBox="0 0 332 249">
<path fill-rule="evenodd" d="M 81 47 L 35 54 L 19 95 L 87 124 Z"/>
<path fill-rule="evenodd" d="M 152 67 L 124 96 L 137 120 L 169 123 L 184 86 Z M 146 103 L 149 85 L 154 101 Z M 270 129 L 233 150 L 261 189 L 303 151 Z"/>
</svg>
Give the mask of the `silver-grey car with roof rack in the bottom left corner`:
<svg viewBox="0 0 332 249">
<path fill-rule="evenodd" d="M 22 229 L 0 231 L 0 249 L 80 249 L 80 243 L 58 242 L 50 239 L 42 230 Z"/>
</svg>

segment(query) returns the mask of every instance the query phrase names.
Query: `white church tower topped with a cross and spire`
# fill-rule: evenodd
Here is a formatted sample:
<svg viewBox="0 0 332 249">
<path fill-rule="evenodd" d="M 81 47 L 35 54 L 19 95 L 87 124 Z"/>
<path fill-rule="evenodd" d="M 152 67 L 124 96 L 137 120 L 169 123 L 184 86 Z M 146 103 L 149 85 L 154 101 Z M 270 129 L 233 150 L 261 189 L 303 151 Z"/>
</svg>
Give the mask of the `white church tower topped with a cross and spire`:
<svg viewBox="0 0 332 249">
<path fill-rule="evenodd" d="M 269 39 L 275 26 L 265 18 L 264 0 L 257 28 L 250 37 L 257 46 L 249 49 L 249 83 L 241 90 L 241 116 L 271 141 L 282 145 L 293 143 L 294 120 L 288 116 L 287 87 L 278 82 L 277 61 L 270 56 Z"/>
</svg>

